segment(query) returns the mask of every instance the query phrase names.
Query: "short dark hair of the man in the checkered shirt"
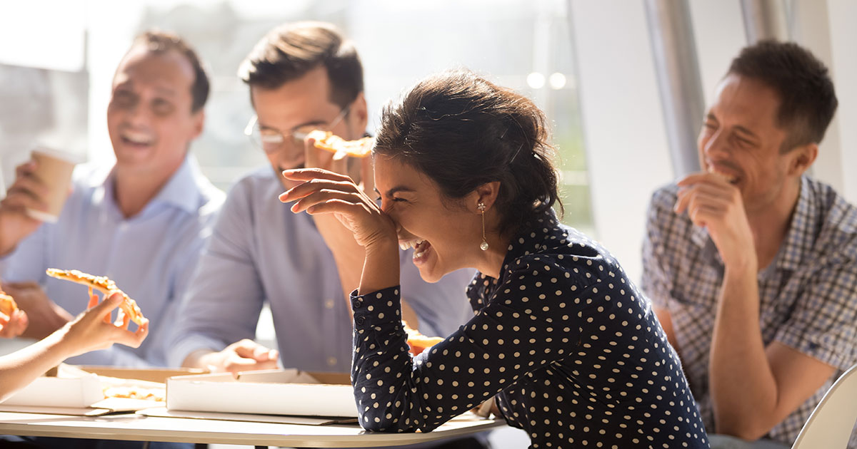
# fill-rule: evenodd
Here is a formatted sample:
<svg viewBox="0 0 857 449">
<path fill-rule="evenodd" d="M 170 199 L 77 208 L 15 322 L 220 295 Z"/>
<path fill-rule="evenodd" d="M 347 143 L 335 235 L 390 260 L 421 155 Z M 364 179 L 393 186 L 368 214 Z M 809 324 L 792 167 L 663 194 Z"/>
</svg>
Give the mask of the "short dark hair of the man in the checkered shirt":
<svg viewBox="0 0 857 449">
<path fill-rule="evenodd" d="M 728 74 L 759 80 L 779 95 L 776 122 L 788 131 L 782 152 L 824 139 L 839 102 L 827 68 L 809 50 L 762 40 L 741 50 Z"/>
</svg>

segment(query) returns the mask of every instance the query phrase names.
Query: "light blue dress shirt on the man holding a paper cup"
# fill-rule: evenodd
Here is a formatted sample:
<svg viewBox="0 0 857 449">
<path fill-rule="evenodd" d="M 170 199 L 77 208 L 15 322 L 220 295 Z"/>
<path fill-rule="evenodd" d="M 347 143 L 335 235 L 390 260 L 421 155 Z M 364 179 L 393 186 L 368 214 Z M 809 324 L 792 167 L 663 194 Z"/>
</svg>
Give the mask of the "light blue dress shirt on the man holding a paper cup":
<svg viewBox="0 0 857 449">
<path fill-rule="evenodd" d="M 126 219 L 113 196 L 114 175 L 109 167 L 75 169 L 74 192 L 59 221 L 43 224 L 0 260 L 0 273 L 9 282 L 39 282 L 71 314 L 86 309 L 87 287 L 48 277 L 45 269 L 106 275 L 135 299 L 150 321 L 149 335 L 139 348 L 114 345 L 68 362 L 165 366 L 165 331 L 176 325 L 176 298 L 187 288 L 225 195 L 189 156 L 155 198 Z"/>
</svg>

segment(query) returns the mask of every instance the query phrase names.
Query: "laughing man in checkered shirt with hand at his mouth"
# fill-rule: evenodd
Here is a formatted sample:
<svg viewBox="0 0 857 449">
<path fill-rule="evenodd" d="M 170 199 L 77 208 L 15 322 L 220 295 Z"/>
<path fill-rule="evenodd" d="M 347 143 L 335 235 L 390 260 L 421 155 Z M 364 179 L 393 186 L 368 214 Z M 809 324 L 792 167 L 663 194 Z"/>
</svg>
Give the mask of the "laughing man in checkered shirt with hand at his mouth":
<svg viewBox="0 0 857 449">
<path fill-rule="evenodd" d="M 643 289 L 712 447 L 791 446 L 857 363 L 857 209 L 805 175 L 836 105 L 809 51 L 746 47 L 705 115 L 702 171 L 652 197 Z"/>
</svg>

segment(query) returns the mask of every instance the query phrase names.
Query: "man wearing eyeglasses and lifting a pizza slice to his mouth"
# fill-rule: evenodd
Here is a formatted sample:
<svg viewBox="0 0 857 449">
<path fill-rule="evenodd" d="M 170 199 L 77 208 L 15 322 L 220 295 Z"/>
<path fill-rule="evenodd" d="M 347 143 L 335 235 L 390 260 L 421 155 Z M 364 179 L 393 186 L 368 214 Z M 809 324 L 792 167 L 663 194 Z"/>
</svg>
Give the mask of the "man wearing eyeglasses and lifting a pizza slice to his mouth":
<svg viewBox="0 0 857 449">
<path fill-rule="evenodd" d="M 270 304 L 284 367 L 347 373 L 351 316 L 347 295 L 359 284 L 363 247 L 334 216 L 292 214 L 278 196 L 294 186 L 281 172 L 321 167 L 372 180 L 369 158 L 337 158 L 316 150 L 305 134 L 365 135 L 363 68 L 357 51 L 330 25 L 302 22 L 275 28 L 239 69 L 256 117 L 248 132 L 270 167 L 233 186 L 207 245 L 173 335 L 172 364 L 219 371 L 268 369 L 278 353 L 253 341 L 263 304 Z M 366 186 L 364 186 L 366 187 Z M 371 190 L 371 187 L 368 187 Z M 403 287 L 411 326 L 446 335 L 466 320 L 464 288 L 472 272 L 423 281 L 402 251 Z"/>
</svg>

